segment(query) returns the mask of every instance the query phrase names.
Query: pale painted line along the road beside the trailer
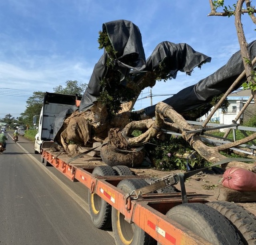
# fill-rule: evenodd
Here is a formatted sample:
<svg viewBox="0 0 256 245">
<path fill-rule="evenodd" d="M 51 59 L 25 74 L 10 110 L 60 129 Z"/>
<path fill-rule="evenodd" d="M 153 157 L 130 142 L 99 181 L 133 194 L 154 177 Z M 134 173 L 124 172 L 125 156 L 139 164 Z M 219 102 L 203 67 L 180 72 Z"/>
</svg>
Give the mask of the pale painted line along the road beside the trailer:
<svg viewBox="0 0 256 245">
<path fill-rule="evenodd" d="M 27 155 L 40 167 L 46 174 L 48 174 L 86 213 L 90 215 L 89 205 L 82 199 L 79 195 L 77 195 L 70 187 L 68 187 L 65 183 L 63 183 L 54 173 L 48 170 L 38 159 L 32 156 L 26 149 L 24 149 L 19 143 L 16 143 L 22 151 L 27 153 Z M 107 231 L 112 237 L 114 237 L 112 231 Z"/>
</svg>

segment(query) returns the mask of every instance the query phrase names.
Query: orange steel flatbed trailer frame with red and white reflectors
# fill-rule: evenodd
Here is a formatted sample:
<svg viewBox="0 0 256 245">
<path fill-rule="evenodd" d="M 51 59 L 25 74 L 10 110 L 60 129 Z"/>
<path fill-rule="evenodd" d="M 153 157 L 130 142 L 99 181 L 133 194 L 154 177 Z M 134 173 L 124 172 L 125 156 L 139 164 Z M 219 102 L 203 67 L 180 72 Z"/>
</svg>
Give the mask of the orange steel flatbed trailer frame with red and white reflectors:
<svg viewBox="0 0 256 245">
<path fill-rule="evenodd" d="M 117 187 L 118 183 L 124 179 L 144 179 L 147 176 L 97 176 L 93 174 L 94 169 L 106 165 L 99 157 L 84 155 L 70 162 L 71 157 L 68 157 L 68 155 L 51 151 L 55 146 L 57 144 L 50 141 L 42 144 L 41 162 L 44 165 L 54 166 L 71 181 L 81 182 L 88 188 L 89 195 L 91 194 L 92 197 L 96 195 L 96 197 L 103 199 L 112 208 L 116 209 L 119 215 L 123 215 L 121 222 L 118 221 L 121 230 L 126 229 L 126 226 L 122 223 L 125 222 L 128 226 L 135 224 L 150 235 L 152 239 L 155 239 L 158 244 L 212 244 L 165 215 L 172 207 L 182 204 L 184 200 L 182 193 L 146 193 L 139 196 L 130 193 L 128 195 Z M 188 203 L 208 202 L 208 195 L 186 193 L 186 197 Z M 122 243 L 116 242 L 116 244 L 156 244 L 156 241 L 155 243 L 145 243 L 144 241 L 140 243 L 139 240 L 136 241 L 136 238 L 134 240 L 130 242 L 132 240 L 125 236 L 122 237 L 121 232 Z"/>
</svg>

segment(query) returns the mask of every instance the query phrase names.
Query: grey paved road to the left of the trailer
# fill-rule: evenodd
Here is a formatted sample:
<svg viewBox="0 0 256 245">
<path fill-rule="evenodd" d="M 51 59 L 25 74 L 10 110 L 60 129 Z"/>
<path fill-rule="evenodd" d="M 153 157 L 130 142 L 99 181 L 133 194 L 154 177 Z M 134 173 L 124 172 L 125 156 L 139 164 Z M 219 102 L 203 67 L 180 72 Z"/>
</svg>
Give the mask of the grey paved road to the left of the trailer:
<svg viewBox="0 0 256 245">
<path fill-rule="evenodd" d="M 113 245 L 110 231 L 92 225 L 87 190 L 44 167 L 33 143 L 9 136 L 0 155 L 0 245 Z"/>
</svg>

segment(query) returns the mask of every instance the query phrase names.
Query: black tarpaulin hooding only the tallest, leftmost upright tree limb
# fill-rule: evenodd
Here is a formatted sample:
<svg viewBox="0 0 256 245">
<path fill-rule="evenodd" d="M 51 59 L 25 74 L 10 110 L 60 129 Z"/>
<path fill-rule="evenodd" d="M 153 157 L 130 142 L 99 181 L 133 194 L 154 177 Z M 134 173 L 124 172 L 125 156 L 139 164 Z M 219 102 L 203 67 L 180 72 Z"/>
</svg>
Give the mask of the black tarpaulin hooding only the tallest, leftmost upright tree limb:
<svg viewBox="0 0 256 245">
<path fill-rule="evenodd" d="M 120 82 L 128 76 L 130 69 L 140 71 L 145 68 L 146 59 L 138 26 L 128 20 L 115 20 L 104 23 L 102 29 L 108 34 L 108 38 L 117 52 L 113 69 L 120 72 Z M 89 109 L 97 101 L 101 92 L 100 81 L 108 76 L 109 72 L 109 68 L 106 66 L 107 58 L 108 54 L 104 51 L 104 54 L 94 66 L 88 88 L 82 97 L 79 111 Z"/>
</svg>

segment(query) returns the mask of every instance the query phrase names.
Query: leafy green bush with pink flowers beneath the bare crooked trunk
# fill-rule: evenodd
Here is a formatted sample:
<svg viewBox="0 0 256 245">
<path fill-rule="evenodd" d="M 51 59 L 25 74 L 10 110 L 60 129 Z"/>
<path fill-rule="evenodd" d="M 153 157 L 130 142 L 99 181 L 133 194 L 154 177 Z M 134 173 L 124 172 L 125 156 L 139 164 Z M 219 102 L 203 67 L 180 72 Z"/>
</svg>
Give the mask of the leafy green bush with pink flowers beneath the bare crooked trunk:
<svg viewBox="0 0 256 245">
<path fill-rule="evenodd" d="M 166 135 L 164 141 L 152 139 L 154 145 L 147 145 L 147 151 L 159 170 L 187 170 L 210 165 L 200 155 L 193 155 L 193 149 L 182 137 Z M 156 146 L 158 145 L 158 146 Z M 183 158 L 182 155 L 188 155 Z"/>
</svg>

